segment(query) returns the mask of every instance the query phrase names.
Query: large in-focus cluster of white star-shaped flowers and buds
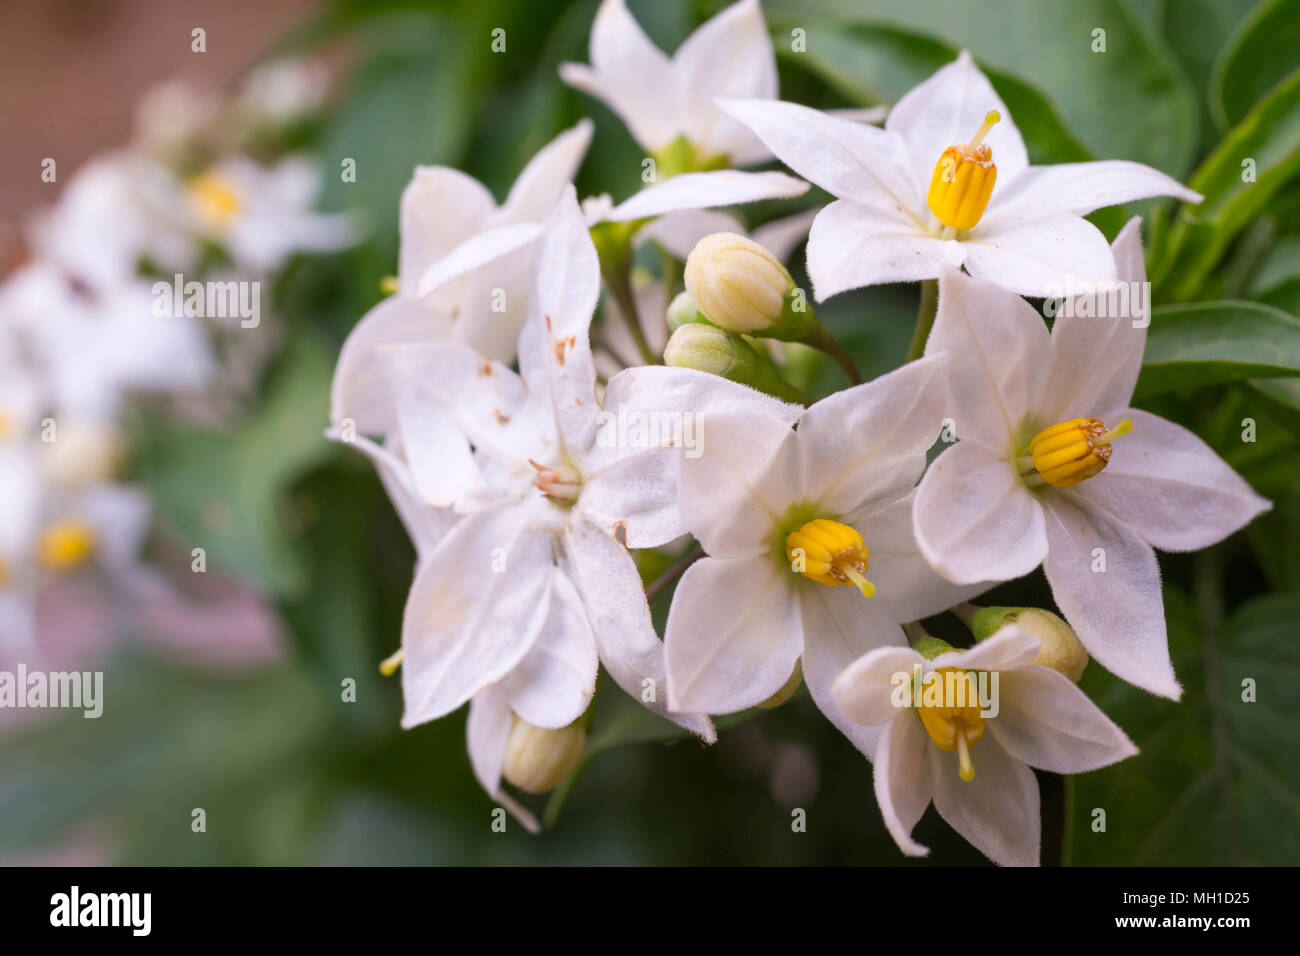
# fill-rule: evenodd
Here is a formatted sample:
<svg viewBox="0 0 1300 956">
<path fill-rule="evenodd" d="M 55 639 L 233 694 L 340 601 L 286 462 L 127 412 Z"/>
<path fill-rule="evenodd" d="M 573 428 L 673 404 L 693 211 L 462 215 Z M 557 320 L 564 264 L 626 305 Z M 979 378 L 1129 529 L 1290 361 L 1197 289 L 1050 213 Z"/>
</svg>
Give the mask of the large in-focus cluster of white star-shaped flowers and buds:
<svg viewBox="0 0 1300 956">
<path fill-rule="evenodd" d="M 560 75 L 660 174 L 620 204 L 580 203 L 588 122 L 502 206 L 417 169 L 396 289 L 335 373 L 332 434 L 374 460 L 417 551 L 384 665 L 402 669 L 403 726 L 469 702 L 474 773 L 532 827 L 506 784 L 543 792 L 572 771 L 601 666 L 705 741 L 711 717 L 802 683 L 872 761 L 905 853 L 927 852 L 911 830 L 933 803 L 996 862 L 1036 864 L 1031 767 L 1136 753 L 1076 687 L 1088 657 L 1180 693 L 1153 548 L 1204 548 L 1268 502 L 1130 407 L 1147 299 L 1065 310 L 1049 330 L 1022 297 L 1141 286 L 1140 222 L 1110 245 L 1083 216 L 1200 198 L 1135 163 L 1031 166 L 966 53 L 883 127 L 780 101 L 757 0 L 672 57 L 604 0 L 592 65 Z M 862 382 L 818 320 L 784 264 L 807 217 L 750 234 L 715 211 L 802 193 L 731 169 L 771 156 L 835 196 L 807 237 L 816 300 L 931 284 L 902 367 Z M 634 269 L 650 241 L 684 268 Z M 805 394 L 792 372 L 809 347 L 850 386 Z M 684 555 L 649 588 L 675 583 L 662 641 L 638 574 L 655 549 Z M 1040 564 L 1061 615 L 968 604 Z M 972 646 L 918 623 L 949 610 Z"/>
</svg>

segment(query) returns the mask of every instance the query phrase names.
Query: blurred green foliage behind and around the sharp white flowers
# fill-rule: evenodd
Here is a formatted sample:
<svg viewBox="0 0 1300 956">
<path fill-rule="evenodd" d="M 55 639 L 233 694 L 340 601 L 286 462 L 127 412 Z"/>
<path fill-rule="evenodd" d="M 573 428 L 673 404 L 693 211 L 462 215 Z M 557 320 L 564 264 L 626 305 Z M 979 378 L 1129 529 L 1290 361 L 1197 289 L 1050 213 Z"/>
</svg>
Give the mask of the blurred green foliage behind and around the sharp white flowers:
<svg viewBox="0 0 1300 956">
<path fill-rule="evenodd" d="M 670 51 L 722 5 L 629 0 Z M 580 195 L 640 186 L 642 153 L 623 125 L 555 72 L 586 61 L 595 8 L 335 0 L 269 51 L 342 52 L 338 101 L 311 146 L 326 206 L 364 213 L 369 239 L 296 261 L 276 289 L 289 347 L 238 428 L 142 419 L 136 471 L 177 540 L 205 541 L 214 564 L 270 593 L 291 661 L 214 674 L 127 646 L 105 663 L 103 718 L 0 737 L 0 853 L 88 827 L 129 864 L 984 862 L 933 810 L 916 829 L 930 860 L 905 860 L 880 822 L 870 765 L 806 692 L 729 722 L 712 749 L 601 695 L 589 758 L 536 838 L 515 823 L 491 831 L 463 711 L 398 730 L 399 684 L 376 665 L 398 641 L 413 551 L 368 462 L 321 437 L 333 360 L 394 272 L 413 165 L 467 169 L 500 199 L 538 147 L 590 114 Z M 1043 860 L 1300 862 L 1300 3 L 766 0 L 764 12 L 785 99 L 890 103 L 965 47 L 1010 105 L 1031 161 L 1138 160 L 1206 195 L 1195 211 L 1149 202 L 1092 219 L 1113 238 L 1128 216 L 1147 217 L 1158 311 L 1140 402 L 1205 437 L 1274 510 L 1210 551 L 1161 555 L 1186 695 L 1157 700 L 1089 666 L 1083 687 L 1141 754 L 1069 782 L 1040 778 Z M 498 27 L 504 53 L 490 48 Z M 806 31 L 805 53 L 792 52 L 793 30 Z M 339 179 L 344 157 L 355 183 Z M 790 211 L 745 212 L 753 226 Z M 874 376 L 902 360 L 916 295 L 850 293 L 823 317 Z M 833 367 L 818 376 L 820 393 L 841 385 Z M 212 520 L 213 502 L 229 520 Z M 1040 572 L 984 602 L 1052 606 Z M 954 620 L 928 624 L 965 643 Z M 356 702 L 341 700 L 346 678 Z M 205 834 L 190 830 L 199 806 Z M 793 808 L 806 810 L 806 832 L 792 831 Z M 1105 832 L 1093 827 L 1098 808 Z"/>
</svg>

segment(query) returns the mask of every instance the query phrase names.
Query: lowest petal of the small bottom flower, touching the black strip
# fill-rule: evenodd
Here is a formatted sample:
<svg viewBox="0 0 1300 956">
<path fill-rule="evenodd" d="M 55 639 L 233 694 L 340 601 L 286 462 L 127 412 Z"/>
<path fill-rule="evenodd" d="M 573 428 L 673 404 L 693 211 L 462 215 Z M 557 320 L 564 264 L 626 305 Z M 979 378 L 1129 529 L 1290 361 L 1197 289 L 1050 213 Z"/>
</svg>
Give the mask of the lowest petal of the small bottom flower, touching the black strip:
<svg viewBox="0 0 1300 956">
<path fill-rule="evenodd" d="M 975 779 L 958 774 L 957 754 L 930 748 L 935 809 L 998 866 L 1037 866 L 1043 821 L 1034 771 L 985 734 L 971 748 Z"/>
</svg>

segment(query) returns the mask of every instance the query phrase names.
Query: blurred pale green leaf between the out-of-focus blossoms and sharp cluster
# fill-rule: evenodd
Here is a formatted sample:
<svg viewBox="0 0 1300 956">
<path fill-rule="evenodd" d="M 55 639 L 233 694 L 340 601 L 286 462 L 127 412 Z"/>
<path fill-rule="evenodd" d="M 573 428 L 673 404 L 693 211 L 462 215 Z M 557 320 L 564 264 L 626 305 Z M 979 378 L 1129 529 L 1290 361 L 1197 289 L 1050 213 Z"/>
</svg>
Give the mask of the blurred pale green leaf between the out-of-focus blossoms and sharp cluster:
<svg viewBox="0 0 1300 956">
<path fill-rule="evenodd" d="M 334 454 L 324 437 L 332 373 L 325 350 L 298 336 L 260 407 L 233 431 L 155 424 L 140 436 L 140 472 L 185 550 L 204 548 L 209 562 L 281 596 L 306 587 L 283 496 Z"/>
</svg>

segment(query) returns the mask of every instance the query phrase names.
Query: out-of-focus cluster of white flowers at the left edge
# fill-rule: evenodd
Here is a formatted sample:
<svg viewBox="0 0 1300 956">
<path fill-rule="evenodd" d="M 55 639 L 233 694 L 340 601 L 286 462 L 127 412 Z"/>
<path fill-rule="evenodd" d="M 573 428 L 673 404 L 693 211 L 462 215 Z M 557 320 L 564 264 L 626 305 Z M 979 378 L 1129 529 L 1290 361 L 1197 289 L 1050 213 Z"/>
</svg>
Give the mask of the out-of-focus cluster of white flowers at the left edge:
<svg viewBox="0 0 1300 956">
<path fill-rule="evenodd" d="M 39 601 L 78 579 L 107 596 L 104 627 L 142 602 L 174 623 L 179 602 L 192 630 L 198 605 L 142 559 L 152 506 L 121 479 L 125 415 L 151 402 L 228 419 L 276 339 L 257 329 L 261 286 L 294 254 L 354 241 L 350 221 L 312 211 L 313 164 L 274 147 L 324 88 L 300 62 L 260 68 L 226 98 L 159 87 L 133 142 L 78 169 L 23 234 L 0 282 L 5 659 L 49 653 Z M 58 174 L 46 160 L 43 178 Z"/>
</svg>

